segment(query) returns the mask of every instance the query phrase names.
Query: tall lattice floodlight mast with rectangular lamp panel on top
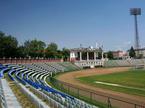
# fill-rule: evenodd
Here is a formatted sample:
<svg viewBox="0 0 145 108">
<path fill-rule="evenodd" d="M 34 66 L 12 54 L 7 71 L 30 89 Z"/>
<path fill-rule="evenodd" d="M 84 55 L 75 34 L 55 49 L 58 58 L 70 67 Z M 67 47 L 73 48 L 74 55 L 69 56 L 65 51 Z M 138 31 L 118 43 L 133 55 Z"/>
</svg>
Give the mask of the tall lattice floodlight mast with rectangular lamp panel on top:
<svg viewBox="0 0 145 108">
<path fill-rule="evenodd" d="M 134 22 L 135 22 L 135 49 L 137 50 L 137 56 L 139 54 L 138 49 L 140 48 L 139 44 L 139 33 L 138 33 L 138 22 L 137 22 L 137 15 L 141 15 L 141 8 L 131 8 L 130 14 L 134 15 Z"/>
</svg>

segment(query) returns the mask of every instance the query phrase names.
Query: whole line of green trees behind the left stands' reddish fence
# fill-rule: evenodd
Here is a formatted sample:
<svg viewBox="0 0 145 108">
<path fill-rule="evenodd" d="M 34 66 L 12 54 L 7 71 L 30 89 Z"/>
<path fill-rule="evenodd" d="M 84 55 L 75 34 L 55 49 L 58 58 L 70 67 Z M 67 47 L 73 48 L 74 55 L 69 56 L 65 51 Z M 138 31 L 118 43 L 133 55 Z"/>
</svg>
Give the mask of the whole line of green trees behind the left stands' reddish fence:
<svg viewBox="0 0 145 108">
<path fill-rule="evenodd" d="M 11 35 L 0 32 L 0 58 L 21 57 L 21 58 L 69 58 L 69 49 L 58 49 L 56 43 L 45 42 L 37 39 L 26 40 L 23 45 L 18 44 L 18 40 Z"/>
</svg>

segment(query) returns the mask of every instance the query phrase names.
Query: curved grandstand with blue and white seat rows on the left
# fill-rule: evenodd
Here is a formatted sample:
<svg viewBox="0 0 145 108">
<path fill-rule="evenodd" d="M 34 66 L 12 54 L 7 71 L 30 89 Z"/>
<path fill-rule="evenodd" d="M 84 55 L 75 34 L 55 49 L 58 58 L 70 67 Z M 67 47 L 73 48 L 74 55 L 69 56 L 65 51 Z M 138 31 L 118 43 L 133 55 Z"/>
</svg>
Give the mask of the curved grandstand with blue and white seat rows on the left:
<svg viewBox="0 0 145 108">
<path fill-rule="evenodd" d="M 73 96 L 63 93 L 48 84 L 51 75 L 66 71 L 79 70 L 80 68 L 70 62 L 58 63 L 28 63 L 28 64 L 0 64 L 0 95 L 2 108 L 21 108 L 21 104 L 16 99 L 12 90 L 8 86 L 4 74 L 21 88 L 31 101 L 38 108 L 97 108 Z M 38 99 L 32 91 L 41 95 L 50 104 L 46 104 Z"/>
</svg>

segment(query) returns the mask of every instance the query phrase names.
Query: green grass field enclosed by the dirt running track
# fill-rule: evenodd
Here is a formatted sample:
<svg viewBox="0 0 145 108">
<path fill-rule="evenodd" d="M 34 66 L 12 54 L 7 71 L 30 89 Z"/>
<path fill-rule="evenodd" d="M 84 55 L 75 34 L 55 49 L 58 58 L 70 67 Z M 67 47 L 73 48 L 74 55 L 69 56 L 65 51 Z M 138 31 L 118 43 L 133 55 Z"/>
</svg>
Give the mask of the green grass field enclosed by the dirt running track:
<svg viewBox="0 0 145 108">
<path fill-rule="evenodd" d="M 81 77 L 77 80 L 99 88 L 145 97 L 145 70 L 129 70 L 120 73 Z M 96 81 L 110 85 L 96 83 Z M 119 84 L 121 86 L 111 84 Z"/>
</svg>

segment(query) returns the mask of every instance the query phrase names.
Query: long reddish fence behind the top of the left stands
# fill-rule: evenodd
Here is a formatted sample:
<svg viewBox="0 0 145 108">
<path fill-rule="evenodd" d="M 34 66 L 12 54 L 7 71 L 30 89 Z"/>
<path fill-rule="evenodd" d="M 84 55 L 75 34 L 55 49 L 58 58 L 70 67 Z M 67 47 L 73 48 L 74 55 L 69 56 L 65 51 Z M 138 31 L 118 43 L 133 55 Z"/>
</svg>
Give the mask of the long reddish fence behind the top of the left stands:
<svg viewBox="0 0 145 108">
<path fill-rule="evenodd" d="M 20 63 L 38 63 L 38 62 L 60 62 L 61 59 L 52 59 L 52 58 L 43 58 L 43 59 L 36 59 L 36 58 L 0 58 L 0 64 L 20 64 Z"/>
</svg>

